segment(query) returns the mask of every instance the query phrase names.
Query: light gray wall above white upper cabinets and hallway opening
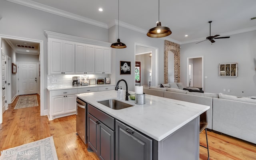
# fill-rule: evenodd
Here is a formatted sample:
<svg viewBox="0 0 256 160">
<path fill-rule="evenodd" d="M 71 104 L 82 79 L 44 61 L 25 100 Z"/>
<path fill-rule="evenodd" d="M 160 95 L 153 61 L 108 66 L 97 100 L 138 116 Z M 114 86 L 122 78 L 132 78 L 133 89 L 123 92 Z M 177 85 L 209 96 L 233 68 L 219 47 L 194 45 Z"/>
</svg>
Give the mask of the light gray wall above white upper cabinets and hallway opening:
<svg viewBox="0 0 256 160">
<path fill-rule="evenodd" d="M 108 29 L 100 28 L 5 0 L 0 1 L 0 34 L 44 41 L 44 102 L 47 98 L 47 39 L 44 30 L 99 41 L 108 41 Z M 15 59 L 16 61 L 16 59 Z M 44 104 L 47 109 L 47 103 Z"/>
</svg>

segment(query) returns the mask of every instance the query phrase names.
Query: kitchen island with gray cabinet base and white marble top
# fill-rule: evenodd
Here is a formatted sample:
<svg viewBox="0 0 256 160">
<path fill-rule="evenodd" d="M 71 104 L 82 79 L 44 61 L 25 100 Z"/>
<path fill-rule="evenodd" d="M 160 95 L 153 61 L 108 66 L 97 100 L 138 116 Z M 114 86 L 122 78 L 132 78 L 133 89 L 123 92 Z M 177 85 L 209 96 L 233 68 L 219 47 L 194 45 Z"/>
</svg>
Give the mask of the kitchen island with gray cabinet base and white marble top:
<svg viewBox="0 0 256 160">
<path fill-rule="evenodd" d="M 146 95 L 145 105 L 123 97 L 133 106 L 114 110 L 98 101 L 116 91 L 78 98 L 88 103 L 88 150 L 101 160 L 199 160 L 199 116 L 209 106 Z"/>
</svg>

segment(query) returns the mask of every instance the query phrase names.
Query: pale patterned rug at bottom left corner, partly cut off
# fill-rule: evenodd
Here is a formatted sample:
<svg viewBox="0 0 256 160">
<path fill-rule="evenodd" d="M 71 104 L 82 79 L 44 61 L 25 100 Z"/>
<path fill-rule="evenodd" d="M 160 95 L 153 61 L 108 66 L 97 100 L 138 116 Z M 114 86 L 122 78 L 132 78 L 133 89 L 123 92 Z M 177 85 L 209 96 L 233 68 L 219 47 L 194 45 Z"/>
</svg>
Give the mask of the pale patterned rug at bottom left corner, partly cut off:
<svg viewBox="0 0 256 160">
<path fill-rule="evenodd" d="M 52 136 L 1 151 L 0 160 L 58 160 Z"/>
</svg>

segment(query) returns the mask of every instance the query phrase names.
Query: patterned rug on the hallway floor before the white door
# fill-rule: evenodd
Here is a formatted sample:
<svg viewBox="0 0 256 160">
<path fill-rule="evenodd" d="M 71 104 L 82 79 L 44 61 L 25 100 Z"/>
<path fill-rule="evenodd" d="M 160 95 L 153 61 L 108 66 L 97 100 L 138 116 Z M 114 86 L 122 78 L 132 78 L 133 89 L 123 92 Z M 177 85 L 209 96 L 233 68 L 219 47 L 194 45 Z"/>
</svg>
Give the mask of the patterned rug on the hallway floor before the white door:
<svg viewBox="0 0 256 160">
<path fill-rule="evenodd" d="M 38 106 L 36 95 L 21 96 L 14 109 Z"/>
</svg>

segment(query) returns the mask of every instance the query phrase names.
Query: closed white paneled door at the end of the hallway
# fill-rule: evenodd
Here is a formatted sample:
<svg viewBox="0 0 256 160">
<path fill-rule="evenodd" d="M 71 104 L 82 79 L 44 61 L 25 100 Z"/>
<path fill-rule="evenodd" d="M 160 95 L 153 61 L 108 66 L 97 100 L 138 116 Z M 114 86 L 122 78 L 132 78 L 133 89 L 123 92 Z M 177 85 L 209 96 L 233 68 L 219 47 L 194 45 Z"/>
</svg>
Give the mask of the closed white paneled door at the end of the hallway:
<svg viewBox="0 0 256 160">
<path fill-rule="evenodd" d="M 18 95 L 29 95 L 37 93 L 37 64 L 18 63 Z"/>
</svg>

